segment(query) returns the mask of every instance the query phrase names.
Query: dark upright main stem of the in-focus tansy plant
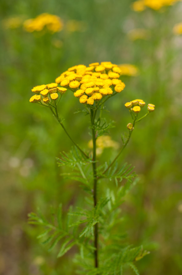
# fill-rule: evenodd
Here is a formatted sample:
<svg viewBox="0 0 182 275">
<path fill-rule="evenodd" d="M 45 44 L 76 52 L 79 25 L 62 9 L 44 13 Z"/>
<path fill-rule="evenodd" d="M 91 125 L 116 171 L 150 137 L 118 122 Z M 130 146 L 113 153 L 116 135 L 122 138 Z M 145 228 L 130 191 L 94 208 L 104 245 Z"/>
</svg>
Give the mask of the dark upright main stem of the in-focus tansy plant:
<svg viewBox="0 0 182 275">
<path fill-rule="evenodd" d="M 93 201 L 94 201 L 94 207 L 97 205 L 97 171 L 96 171 L 96 132 L 95 132 L 95 125 L 94 125 L 94 119 L 96 116 L 96 110 L 95 112 L 90 109 L 90 118 L 91 118 L 91 127 L 92 127 L 92 140 L 93 140 L 93 162 L 92 162 L 92 168 L 93 168 Z M 98 223 L 94 226 L 94 260 L 95 260 L 95 267 L 99 266 L 98 262 Z"/>
</svg>

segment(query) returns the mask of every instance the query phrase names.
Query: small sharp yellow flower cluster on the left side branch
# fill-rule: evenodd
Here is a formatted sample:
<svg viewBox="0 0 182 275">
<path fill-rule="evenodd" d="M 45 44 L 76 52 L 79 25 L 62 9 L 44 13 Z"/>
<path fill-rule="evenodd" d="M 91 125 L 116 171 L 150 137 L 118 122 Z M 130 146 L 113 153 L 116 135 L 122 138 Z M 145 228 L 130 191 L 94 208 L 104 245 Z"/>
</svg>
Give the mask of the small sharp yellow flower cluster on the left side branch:
<svg viewBox="0 0 182 275">
<path fill-rule="evenodd" d="M 47 85 L 39 85 L 32 89 L 32 92 L 35 93 L 34 96 L 30 98 L 30 102 L 36 103 L 39 101 L 43 101 L 43 103 L 48 104 L 51 100 L 58 99 L 58 92 L 62 95 L 66 92 L 66 88 L 57 87 L 57 83 L 50 83 Z"/>
</svg>

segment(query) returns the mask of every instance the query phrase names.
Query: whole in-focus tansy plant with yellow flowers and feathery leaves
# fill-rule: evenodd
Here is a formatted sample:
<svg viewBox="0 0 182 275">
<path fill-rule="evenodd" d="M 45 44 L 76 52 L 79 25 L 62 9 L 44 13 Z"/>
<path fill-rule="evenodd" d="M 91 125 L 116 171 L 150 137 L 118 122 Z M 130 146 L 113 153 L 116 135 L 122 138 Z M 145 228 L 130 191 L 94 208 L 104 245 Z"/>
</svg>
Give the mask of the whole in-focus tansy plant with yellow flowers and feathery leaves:
<svg viewBox="0 0 182 275">
<path fill-rule="evenodd" d="M 55 83 L 32 89 L 35 95 L 30 102 L 49 108 L 74 144 L 69 153 L 61 153 L 58 165 L 72 168 L 64 176 L 81 183 L 80 187 L 86 193 L 86 205 L 76 209 L 71 206 L 66 222 L 62 219 L 62 205 L 54 214 L 53 222 L 49 222 L 42 214 L 34 213 L 29 214 L 29 222 L 45 228 L 38 238 L 43 238 L 43 243 L 49 245 L 49 250 L 57 245 L 58 257 L 63 256 L 73 246 L 79 248 L 80 252 L 75 256 L 75 262 L 79 266 L 78 274 L 119 275 L 123 274 L 124 266 L 130 266 L 135 274 L 139 274 L 135 262 L 148 253 L 143 251 L 142 246 L 132 247 L 124 241 L 120 206 L 123 197 L 135 185 L 136 174 L 132 172 L 130 165 L 119 166 L 117 161 L 128 144 L 135 125 L 152 112 L 155 106 L 148 104 L 147 113 L 139 118 L 141 108 L 145 106 L 142 99 L 123 103 L 131 115 L 131 122 L 127 124 L 128 134 L 122 136 L 123 145 L 116 157 L 105 163 L 100 163 L 96 155 L 97 145 L 100 143 L 105 142 L 110 146 L 108 137 L 102 141 L 100 137 L 104 137 L 104 133 L 108 133 L 112 125 L 106 123 L 101 115 L 106 101 L 113 96 L 120 96 L 125 88 L 125 84 L 119 79 L 121 74 L 120 68 L 111 62 L 96 62 L 89 64 L 89 67 L 78 65 L 62 73 Z M 91 155 L 72 139 L 59 115 L 59 101 L 67 90 L 79 100 L 83 106 L 82 111 L 90 117 Z M 105 188 L 101 188 L 102 181 Z M 109 188 L 109 181 L 113 182 L 112 190 Z"/>
</svg>

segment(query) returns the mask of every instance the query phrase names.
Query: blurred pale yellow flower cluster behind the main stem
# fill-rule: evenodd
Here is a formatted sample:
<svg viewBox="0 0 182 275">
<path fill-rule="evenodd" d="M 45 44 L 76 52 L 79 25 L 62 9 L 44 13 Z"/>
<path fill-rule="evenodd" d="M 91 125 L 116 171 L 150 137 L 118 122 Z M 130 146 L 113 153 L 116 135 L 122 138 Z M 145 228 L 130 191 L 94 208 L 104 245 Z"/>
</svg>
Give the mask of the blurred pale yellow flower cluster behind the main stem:
<svg viewBox="0 0 182 275">
<path fill-rule="evenodd" d="M 89 148 L 93 148 L 93 140 L 90 140 L 88 143 Z M 96 140 L 96 154 L 101 155 L 103 152 L 104 148 L 114 148 L 118 149 L 119 148 L 119 143 L 116 141 L 113 141 L 110 136 L 101 136 L 98 137 Z"/>
</svg>

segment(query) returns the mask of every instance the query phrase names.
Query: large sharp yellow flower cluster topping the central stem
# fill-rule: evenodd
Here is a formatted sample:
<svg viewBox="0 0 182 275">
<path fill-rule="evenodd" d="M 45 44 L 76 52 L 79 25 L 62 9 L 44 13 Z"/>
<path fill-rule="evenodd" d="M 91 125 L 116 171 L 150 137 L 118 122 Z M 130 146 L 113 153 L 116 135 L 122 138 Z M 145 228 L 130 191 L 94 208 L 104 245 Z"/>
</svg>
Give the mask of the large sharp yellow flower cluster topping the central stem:
<svg viewBox="0 0 182 275">
<path fill-rule="evenodd" d="M 56 83 L 72 89 L 80 103 L 93 105 L 94 101 L 112 95 L 113 91 L 123 91 L 125 84 L 118 79 L 120 74 L 118 65 L 111 62 L 96 62 L 89 64 L 89 67 L 76 65 L 69 68 L 56 78 Z"/>
</svg>

